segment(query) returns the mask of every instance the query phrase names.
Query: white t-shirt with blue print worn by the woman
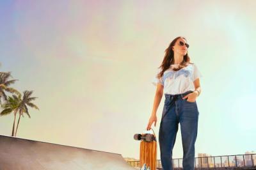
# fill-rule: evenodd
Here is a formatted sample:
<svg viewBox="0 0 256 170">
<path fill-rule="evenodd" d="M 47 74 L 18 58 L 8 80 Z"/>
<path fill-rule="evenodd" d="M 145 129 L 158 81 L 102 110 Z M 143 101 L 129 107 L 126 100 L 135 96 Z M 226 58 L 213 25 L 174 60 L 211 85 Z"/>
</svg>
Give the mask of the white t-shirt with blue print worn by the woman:
<svg viewBox="0 0 256 170">
<path fill-rule="evenodd" d="M 157 74 L 152 80 L 152 83 L 156 86 L 160 83 L 164 86 L 164 94 L 177 95 L 180 93 L 185 93 L 186 91 L 195 91 L 194 81 L 202 74 L 198 70 L 195 64 L 190 64 L 184 68 L 173 71 L 172 68 L 178 68 L 179 64 L 170 65 L 170 68 L 164 71 L 163 76 L 158 79 Z M 159 68 L 158 72 L 161 72 Z"/>
</svg>

